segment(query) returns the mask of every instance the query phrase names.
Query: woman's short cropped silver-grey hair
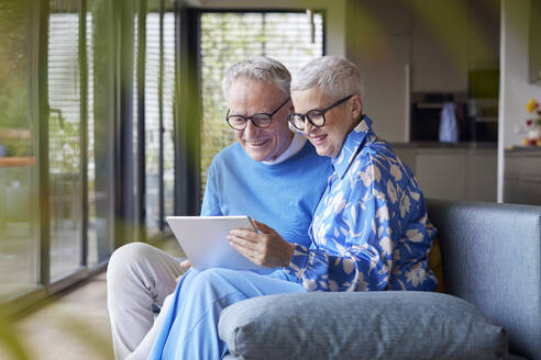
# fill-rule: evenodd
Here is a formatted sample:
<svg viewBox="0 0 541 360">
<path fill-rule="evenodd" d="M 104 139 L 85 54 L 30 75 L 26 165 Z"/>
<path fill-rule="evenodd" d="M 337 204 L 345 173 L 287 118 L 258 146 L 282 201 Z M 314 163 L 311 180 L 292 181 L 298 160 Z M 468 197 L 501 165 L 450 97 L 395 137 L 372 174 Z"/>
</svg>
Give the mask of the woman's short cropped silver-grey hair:
<svg viewBox="0 0 541 360">
<path fill-rule="evenodd" d="M 327 98 L 342 99 L 363 95 L 361 72 L 350 60 L 339 56 L 323 56 L 302 66 L 291 80 L 291 91 L 318 87 Z"/>
</svg>

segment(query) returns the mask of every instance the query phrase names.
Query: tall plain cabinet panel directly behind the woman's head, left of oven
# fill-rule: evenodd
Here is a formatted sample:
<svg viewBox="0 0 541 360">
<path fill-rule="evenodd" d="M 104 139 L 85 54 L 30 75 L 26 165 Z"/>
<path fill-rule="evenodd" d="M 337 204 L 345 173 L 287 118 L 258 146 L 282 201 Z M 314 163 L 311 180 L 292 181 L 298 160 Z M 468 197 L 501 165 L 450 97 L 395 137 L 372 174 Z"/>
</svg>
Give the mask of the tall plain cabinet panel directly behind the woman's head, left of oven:
<svg viewBox="0 0 541 360">
<path fill-rule="evenodd" d="M 361 70 L 363 111 L 378 136 L 409 140 L 410 7 L 397 0 L 346 3 L 346 56 Z"/>
</svg>

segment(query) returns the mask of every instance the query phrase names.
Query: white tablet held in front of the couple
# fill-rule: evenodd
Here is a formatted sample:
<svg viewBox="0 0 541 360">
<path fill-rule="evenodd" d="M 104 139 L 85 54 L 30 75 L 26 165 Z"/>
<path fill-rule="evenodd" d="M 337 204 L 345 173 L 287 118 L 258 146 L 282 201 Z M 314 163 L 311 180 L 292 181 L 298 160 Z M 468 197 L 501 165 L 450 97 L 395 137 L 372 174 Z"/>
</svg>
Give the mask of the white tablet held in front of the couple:
<svg viewBox="0 0 541 360">
<path fill-rule="evenodd" d="M 249 216 L 167 216 L 167 223 L 196 269 L 267 269 L 246 259 L 227 239 L 233 228 L 255 230 Z"/>
</svg>

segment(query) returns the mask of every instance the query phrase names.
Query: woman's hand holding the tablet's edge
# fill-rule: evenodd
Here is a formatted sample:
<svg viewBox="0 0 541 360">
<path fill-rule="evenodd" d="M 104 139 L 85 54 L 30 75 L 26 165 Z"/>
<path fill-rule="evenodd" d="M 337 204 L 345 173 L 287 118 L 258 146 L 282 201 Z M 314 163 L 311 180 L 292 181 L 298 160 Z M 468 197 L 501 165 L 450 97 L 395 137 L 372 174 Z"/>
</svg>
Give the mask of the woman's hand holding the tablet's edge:
<svg viewBox="0 0 541 360">
<path fill-rule="evenodd" d="M 267 225 L 253 221 L 260 230 L 235 228 L 229 233 L 231 246 L 255 265 L 267 268 L 285 267 L 291 261 L 295 245 L 287 243 Z"/>
</svg>

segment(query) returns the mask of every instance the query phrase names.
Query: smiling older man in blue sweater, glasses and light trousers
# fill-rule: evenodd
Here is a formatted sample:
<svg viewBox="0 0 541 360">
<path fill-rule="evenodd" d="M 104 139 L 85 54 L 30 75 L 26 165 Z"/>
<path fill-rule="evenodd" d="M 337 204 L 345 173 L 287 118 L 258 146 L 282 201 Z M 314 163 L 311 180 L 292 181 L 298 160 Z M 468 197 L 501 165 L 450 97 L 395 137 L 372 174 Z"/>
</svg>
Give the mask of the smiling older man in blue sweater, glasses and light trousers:
<svg viewBox="0 0 541 360">
<path fill-rule="evenodd" d="M 249 215 L 288 241 L 308 246 L 306 235 L 330 161 L 288 127 L 290 79 L 284 65 L 267 57 L 236 63 L 225 71 L 225 120 L 238 142 L 209 168 L 201 215 Z M 177 259 L 142 243 L 114 251 L 107 281 L 117 359 L 146 359 L 157 328 L 152 305 L 162 306 L 185 270 Z"/>
</svg>

